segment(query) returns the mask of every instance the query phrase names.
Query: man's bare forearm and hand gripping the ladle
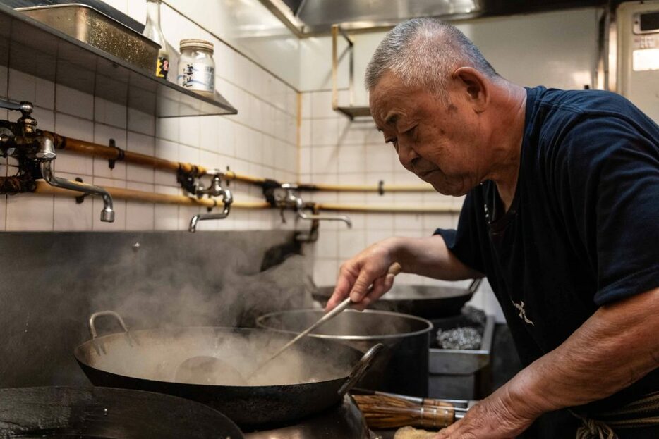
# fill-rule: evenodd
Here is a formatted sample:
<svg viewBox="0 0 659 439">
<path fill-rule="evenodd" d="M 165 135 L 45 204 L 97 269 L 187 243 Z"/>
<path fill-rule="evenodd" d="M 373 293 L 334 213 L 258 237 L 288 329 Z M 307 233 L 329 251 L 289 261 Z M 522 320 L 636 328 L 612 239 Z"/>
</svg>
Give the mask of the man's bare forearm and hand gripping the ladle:
<svg viewBox="0 0 659 439">
<path fill-rule="evenodd" d="M 404 273 L 414 273 L 443 280 L 461 280 L 483 277 L 469 268 L 449 251 L 441 235 L 411 238 L 391 237 L 377 242 L 341 265 L 337 287 L 327 302 L 330 310 L 350 296 L 357 308 L 368 307 L 389 291 L 394 275 L 388 273 L 394 263 Z M 372 289 L 369 290 L 369 288 Z"/>
</svg>

